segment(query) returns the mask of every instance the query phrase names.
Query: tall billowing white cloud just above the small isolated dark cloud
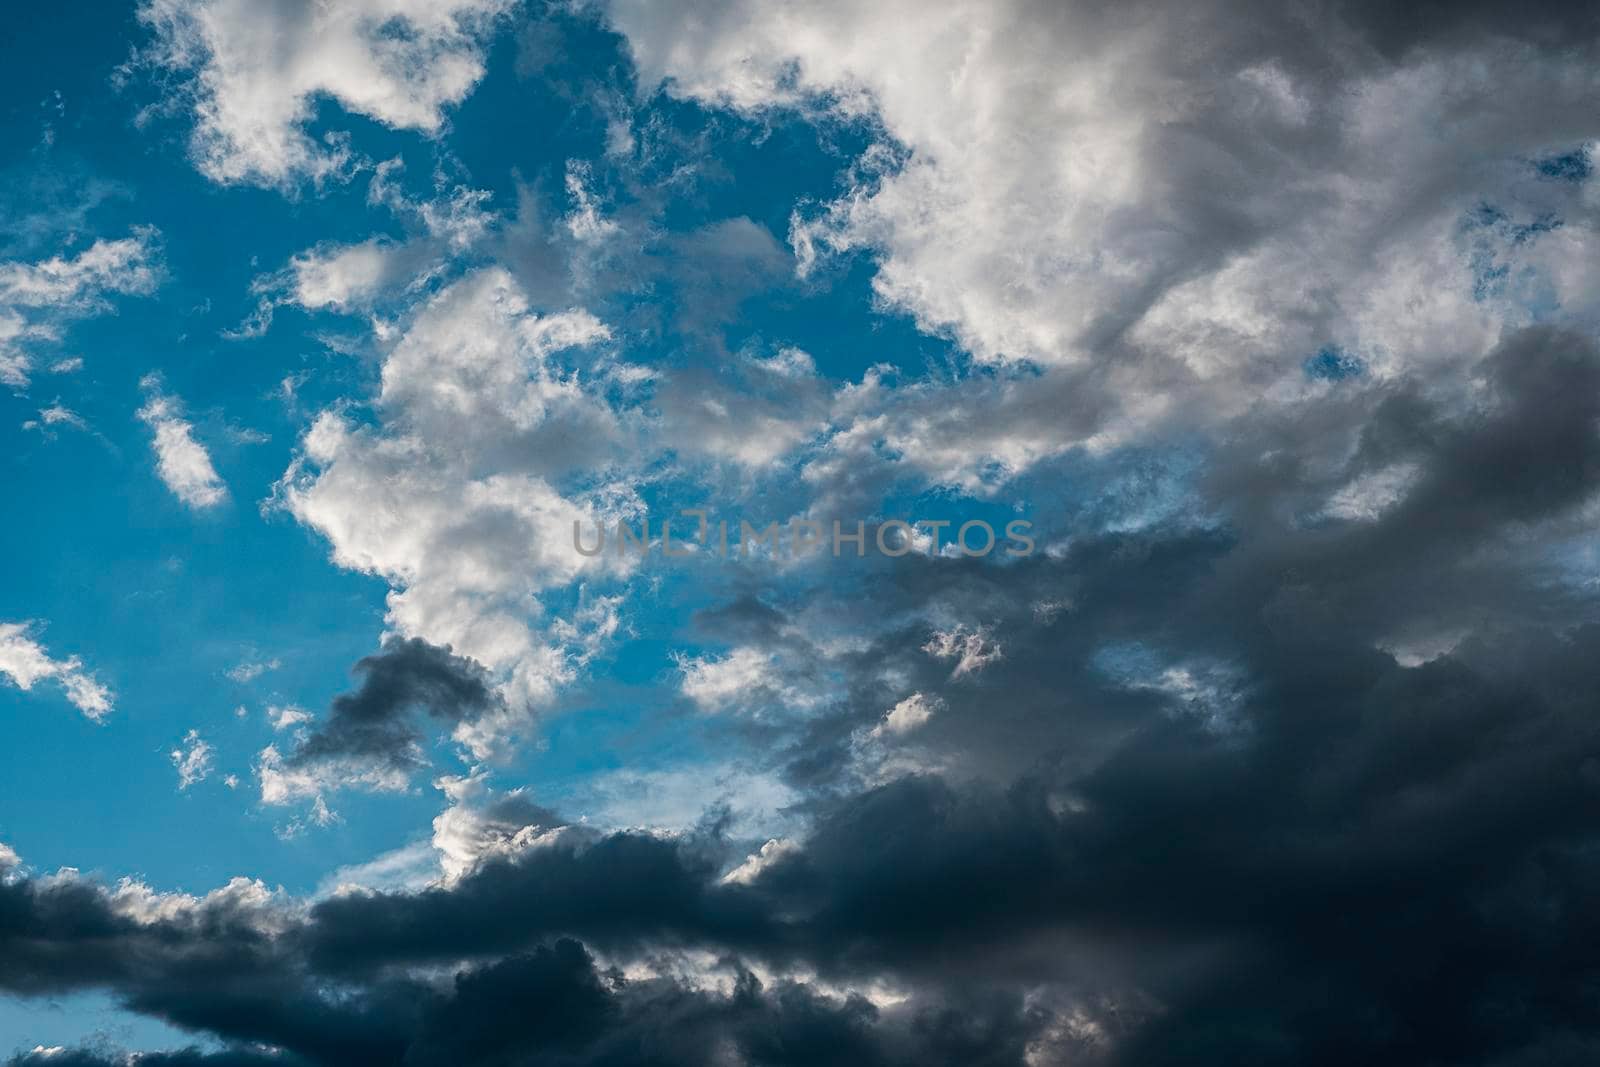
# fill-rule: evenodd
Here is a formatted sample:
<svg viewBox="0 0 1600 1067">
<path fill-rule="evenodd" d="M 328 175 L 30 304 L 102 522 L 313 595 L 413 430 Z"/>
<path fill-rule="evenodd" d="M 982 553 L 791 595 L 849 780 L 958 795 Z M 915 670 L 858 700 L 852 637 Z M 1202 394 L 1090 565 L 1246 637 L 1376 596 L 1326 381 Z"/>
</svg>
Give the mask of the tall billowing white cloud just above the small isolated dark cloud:
<svg viewBox="0 0 1600 1067">
<path fill-rule="evenodd" d="M 626 483 L 563 496 L 552 477 L 600 467 L 618 419 L 562 358 L 608 336 L 584 312 L 538 317 L 499 269 L 430 298 L 384 365 L 378 424 L 326 411 L 277 502 L 322 533 L 339 566 L 392 585 L 389 624 L 448 645 L 506 683 L 507 705 L 456 731 L 486 755 L 614 632 L 614 601 L 547 621 L 538 597 L 630 560 L 573 549 L 573 523 L 637 510 Z M 603 363 L 602 355 L 590 357 Z"/>
</svg>

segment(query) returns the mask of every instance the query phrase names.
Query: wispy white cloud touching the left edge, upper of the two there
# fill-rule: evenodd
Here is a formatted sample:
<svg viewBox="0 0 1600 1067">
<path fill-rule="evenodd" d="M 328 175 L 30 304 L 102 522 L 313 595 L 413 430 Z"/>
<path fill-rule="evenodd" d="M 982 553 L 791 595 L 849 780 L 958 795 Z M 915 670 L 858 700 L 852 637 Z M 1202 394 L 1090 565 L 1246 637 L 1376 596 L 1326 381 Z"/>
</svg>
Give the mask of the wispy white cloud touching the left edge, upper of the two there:
<svg viewBox="0 0 1600 1067">
<path fill-rule="evenodd" d="M 67 320 L 110 309 L 110 294 L 147 294 L 160 283 L 157 232 L 98 240 L 75 256 L 37 262 L 0 262 L 0 384 L 22 389 L 34 373 L 30 342 L 61 336 Z M 51 373 L 70 373 L 82 358 L 58 360 Z"/>
</svg>

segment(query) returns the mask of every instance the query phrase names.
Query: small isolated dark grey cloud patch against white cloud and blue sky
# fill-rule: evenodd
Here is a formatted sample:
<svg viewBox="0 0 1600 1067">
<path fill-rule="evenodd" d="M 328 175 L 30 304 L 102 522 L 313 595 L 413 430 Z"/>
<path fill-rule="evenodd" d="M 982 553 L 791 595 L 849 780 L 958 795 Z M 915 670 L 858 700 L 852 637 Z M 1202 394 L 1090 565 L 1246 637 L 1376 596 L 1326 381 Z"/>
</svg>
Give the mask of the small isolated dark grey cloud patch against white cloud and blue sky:
<svg viewBox="0 0 1600 1067">
<path fill-rule="evenodd" d="M 499 701 L 483 667 L 421 638 L 390 640 L 355 672 L 362 686 L 334 697 L 326 718 L 290 755 L 291 766 L 354 758 L 410 768 L 419 760 L 416 712 L 458 723 Z"/>
</svg>

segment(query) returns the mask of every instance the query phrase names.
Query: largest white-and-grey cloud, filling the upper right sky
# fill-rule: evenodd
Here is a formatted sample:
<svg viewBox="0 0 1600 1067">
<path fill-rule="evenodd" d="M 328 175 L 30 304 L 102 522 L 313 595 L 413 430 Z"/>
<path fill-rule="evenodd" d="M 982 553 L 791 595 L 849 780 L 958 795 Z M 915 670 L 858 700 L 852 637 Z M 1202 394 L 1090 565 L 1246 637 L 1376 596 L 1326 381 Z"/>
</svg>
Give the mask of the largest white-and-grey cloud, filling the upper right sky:
<svg viewBox="0 0 1600 1067">
<path fill-rule="evenodd" d="M 882 125 L 850 190 L 797 211 L 800 267 L 872 250 L 877 294 L 923 330 L 982 362 L 1053 368 L 1003 398 L 1026 414 L 1043 394 L 1066 416 L 995 442 L 1013 472 L 1064 445 L 1293 402 L 1302 360 L 1330 342 L 1384 379 L 1469 365 L 1530 304 L 1600 314 L 1592 197 L 1528 163 L 1587 128 L 1578 53 L 1499 42 L 1381 61 L 1350 22 L 1362 11 L 1338 6 L 1251 14 L 1283 22 L 1251 32 L 1227 5 L 605 6 L 646 85 Z M 1469 222 L 1485 202 L 1502 216 Z M 1563 224 L 1528 229 L 1550 216 Z M 1512 282 L 1486 283 L 1483 262 L 1514 264 Z M 922 429 L 947 424 L 925 414 Z M 904 419 L 859 429 L 941 442 Z M 960 446 L 925 462 L 971 490 Z"/>
</svg>

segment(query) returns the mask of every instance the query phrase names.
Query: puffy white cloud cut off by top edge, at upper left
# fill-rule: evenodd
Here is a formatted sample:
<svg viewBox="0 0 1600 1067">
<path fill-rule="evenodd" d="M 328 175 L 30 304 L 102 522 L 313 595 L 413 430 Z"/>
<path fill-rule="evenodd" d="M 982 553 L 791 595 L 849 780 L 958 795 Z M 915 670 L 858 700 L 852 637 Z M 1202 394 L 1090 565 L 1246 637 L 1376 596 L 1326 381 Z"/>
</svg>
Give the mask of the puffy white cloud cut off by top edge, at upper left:
<svg viewBox="0 0 1600 1067">
<path fill-rule="evenodd" d="M 192 74 L 200 171 L 288 186 L 344 170 L 344 142 L 306 134 L 318 98 L 397 130 L 437 133 L 483 77 L 483 46 L 514 0 L 149 0 L 150 58 Z"/>
</svg>

